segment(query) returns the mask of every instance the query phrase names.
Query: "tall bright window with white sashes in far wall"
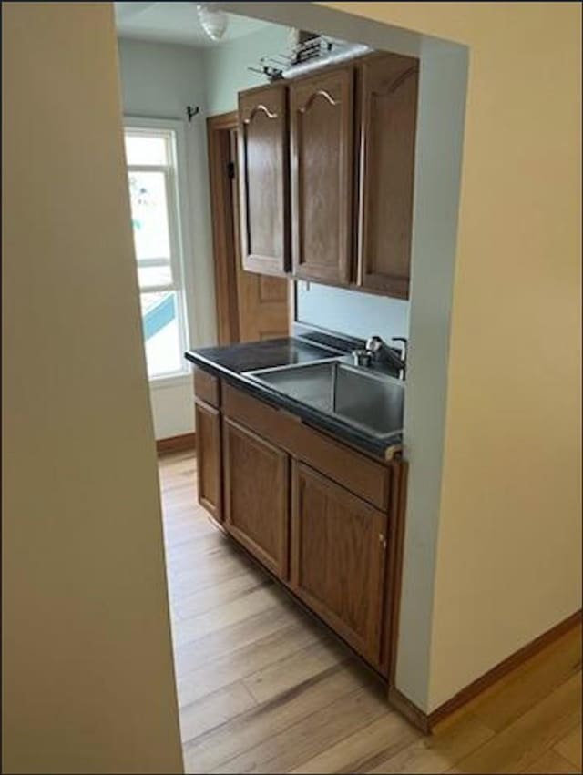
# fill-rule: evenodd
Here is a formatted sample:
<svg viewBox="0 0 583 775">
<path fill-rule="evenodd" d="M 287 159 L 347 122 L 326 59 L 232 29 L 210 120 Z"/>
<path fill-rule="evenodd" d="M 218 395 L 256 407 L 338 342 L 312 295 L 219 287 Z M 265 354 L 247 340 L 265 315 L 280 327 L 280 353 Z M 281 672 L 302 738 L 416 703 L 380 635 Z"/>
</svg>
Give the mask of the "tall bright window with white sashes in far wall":
<svg viewBox="0 0 583 775">
<path fill-rule="evenodd" d="M 150 380 L 186 371 L 177 133 L 127 126 L 129 199 Z"/>
</svg>

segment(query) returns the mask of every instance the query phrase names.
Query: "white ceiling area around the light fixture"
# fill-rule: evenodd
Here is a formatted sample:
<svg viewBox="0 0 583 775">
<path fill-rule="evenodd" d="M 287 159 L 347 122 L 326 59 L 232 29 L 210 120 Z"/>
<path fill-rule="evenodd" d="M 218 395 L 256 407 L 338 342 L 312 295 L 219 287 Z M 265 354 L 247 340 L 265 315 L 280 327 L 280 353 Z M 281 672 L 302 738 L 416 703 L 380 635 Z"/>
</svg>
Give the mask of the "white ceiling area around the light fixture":
<svg viewBox="0 0 583 775">
<path fill-rule="evenodd" d="M 219 42 L 202 29 L 196 3 L 114 3 L 118 35 L 141 40 L 184 43 L 189 46 L 220 46 L 222 42 L 266 30 L 269 22 L 228 14 L 229 25 Z"/>
</svg>

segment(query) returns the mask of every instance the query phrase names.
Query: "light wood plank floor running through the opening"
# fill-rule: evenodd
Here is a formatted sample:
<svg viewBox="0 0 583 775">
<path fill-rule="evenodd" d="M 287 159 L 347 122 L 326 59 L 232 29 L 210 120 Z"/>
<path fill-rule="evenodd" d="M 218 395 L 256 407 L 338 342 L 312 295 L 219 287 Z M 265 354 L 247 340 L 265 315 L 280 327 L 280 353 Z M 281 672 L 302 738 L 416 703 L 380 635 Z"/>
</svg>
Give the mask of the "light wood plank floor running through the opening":
<svg viewBox="0 0 583 775">
<path fill-rule="evenodd" d="M 196 503 L 195 459 L 160 478 L 187 772 L 581 772 L 581 631 L 424 738 Z"/>
</svg>

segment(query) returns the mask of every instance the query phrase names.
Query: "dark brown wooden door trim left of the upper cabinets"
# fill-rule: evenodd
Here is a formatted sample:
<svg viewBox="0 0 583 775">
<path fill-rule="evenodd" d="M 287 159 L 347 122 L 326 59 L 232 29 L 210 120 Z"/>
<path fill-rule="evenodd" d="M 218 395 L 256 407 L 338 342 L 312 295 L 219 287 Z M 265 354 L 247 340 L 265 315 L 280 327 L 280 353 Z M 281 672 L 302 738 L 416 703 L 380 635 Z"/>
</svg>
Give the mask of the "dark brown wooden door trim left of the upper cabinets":
<svg viewBox="0 0 583 775">
<path fill-rule="evenodd" d="M 234 212 L 227 172 L 231 160 L 230 132 L 237 128 L 238 123 L 236 110 L 207 118 L 212 258 L 219 344 L 239 341 L 236 252 L 234 235 L 230 229 Z"/>
</svg>

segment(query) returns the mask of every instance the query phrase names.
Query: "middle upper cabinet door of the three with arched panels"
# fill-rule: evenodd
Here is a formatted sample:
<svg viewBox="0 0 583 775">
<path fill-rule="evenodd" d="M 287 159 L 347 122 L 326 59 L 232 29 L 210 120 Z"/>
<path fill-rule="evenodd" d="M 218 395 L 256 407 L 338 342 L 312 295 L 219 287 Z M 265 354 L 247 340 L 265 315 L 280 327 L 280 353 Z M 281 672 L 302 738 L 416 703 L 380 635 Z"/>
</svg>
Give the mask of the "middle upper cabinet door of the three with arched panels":
<svg viewBox="0 0 583 775">
<path fill-rule="evenodd" d="M 290 86 L 293 273 L 348 284 L 353 234 L 353 67 Z"/>
</svg>

